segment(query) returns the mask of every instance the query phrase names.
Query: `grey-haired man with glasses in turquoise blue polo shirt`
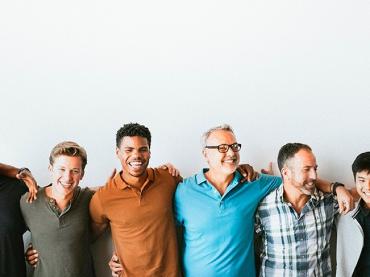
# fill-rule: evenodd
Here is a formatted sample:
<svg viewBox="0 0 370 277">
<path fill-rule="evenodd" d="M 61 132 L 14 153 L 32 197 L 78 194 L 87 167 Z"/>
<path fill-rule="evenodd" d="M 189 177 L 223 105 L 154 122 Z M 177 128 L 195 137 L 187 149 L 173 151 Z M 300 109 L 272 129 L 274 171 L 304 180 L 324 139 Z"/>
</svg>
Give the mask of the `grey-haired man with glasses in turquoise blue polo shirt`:
<svg viewBox="0 0 370 277">
<path fill-rule="evenodd" d="M 203 138 L 209 170 L 185 179 L 175 194 L 184 275 L 255 276 L 254 214 L 281 178 L 261 174 L 253 182 L 241 182 L 241 145 L 229 125 L 212 128 Z"/>
</svg>

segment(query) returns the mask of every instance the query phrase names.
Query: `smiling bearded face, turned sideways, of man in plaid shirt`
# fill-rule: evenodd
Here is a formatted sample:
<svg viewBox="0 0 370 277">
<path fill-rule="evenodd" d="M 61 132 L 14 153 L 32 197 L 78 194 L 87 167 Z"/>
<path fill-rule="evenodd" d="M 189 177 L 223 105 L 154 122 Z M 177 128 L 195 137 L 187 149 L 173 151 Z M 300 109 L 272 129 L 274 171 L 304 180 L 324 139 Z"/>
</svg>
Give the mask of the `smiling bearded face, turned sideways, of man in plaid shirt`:
<svg viewBox="0 0 370 277">
<path fill-rule="evenodd" d="M 317 179 L 316 158 L 312 151 L 301 149 L 286 161 L 282 169 L 284 183 L 300 194 L 312 195 Z"/>
</svg>

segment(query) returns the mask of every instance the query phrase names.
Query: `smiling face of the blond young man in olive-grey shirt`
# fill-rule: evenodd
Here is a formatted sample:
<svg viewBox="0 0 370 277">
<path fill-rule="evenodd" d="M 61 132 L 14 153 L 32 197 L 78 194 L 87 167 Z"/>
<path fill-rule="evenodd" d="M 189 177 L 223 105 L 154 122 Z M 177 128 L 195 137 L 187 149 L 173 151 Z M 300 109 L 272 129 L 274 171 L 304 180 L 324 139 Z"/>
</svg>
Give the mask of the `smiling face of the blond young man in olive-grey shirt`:
<svg viewBox="0 0 370 277">
<path fill-rule="evenodd" d="M 81 157 L 60 155 L 49 165 L 53 192 L 60 196 L 73 195 L 84 175 Z"/>
</svg>

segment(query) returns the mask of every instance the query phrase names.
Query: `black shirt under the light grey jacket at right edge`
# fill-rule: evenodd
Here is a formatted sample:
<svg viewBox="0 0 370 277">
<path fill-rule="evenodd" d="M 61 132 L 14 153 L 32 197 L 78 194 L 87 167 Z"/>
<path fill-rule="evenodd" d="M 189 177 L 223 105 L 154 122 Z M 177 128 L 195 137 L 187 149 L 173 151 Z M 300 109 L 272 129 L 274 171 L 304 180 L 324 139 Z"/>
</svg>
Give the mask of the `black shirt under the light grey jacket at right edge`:
<svg viewBox="0 0 370 277">
<path fill-rule="evenodd" d="M 356 277 L 370 276 L 370 209 L 363 200 L 360 201 L 359 205 L 359 211 L 355 218 L 364 232 L 364 247 L 353 275 Z"/>
</svg>

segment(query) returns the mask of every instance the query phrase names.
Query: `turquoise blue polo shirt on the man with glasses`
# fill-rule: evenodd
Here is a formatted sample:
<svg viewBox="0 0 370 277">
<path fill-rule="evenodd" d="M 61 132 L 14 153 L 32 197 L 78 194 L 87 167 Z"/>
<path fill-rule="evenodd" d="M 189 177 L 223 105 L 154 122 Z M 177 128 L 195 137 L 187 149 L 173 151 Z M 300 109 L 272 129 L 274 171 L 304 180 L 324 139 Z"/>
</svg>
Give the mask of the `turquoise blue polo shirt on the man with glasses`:
<svg viewBox="0 0 370 277">
<path fill-rule="evenodd" d="M 189 277 L 255 276 L 254 215 L 259 201 L 281 184 L 261 174 L 250 183 L 234 178 L 221 196 L 203 169 L 175 193 L 175 217 L 183 227 L 183 267 Z"/>
</svg>

